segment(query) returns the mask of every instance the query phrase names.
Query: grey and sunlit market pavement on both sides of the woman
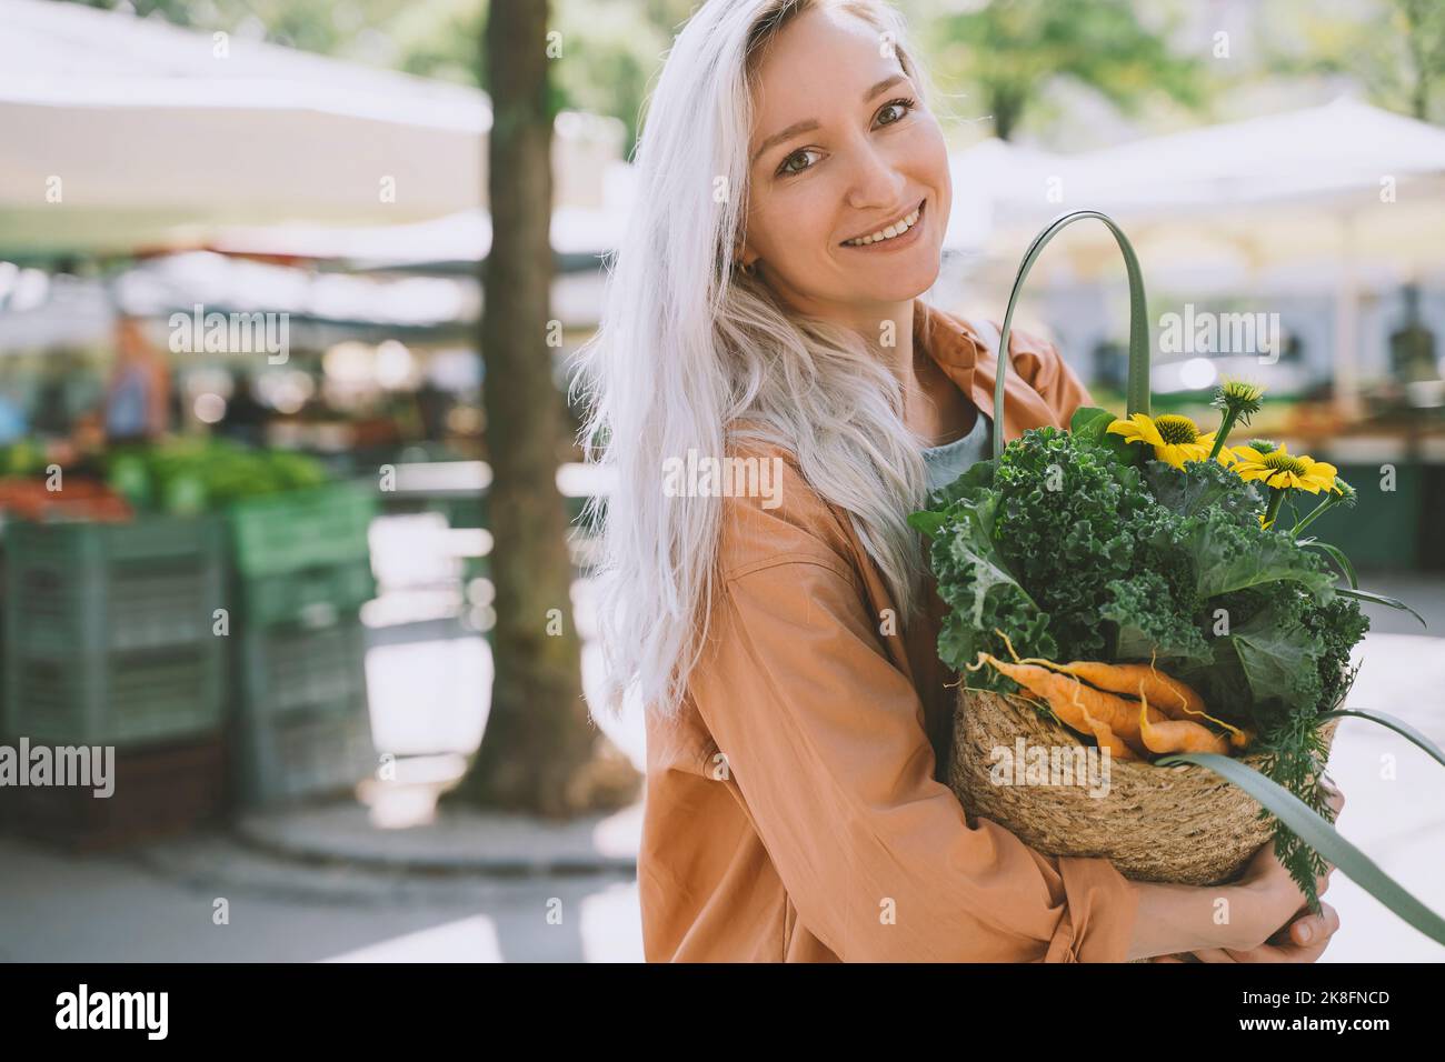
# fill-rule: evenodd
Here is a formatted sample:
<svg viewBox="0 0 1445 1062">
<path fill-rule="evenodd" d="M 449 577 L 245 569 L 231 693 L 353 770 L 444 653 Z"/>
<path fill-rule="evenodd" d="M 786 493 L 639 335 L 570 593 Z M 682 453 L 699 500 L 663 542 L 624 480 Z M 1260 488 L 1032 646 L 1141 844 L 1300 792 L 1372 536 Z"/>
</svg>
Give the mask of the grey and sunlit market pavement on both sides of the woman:
<svg viewBox="0 0 1445 1062">
<path fill-rule="evenodd" d="M 1445 630 L 1445 579 L 1363 582 L 1407 597 L 1432 634 Z M 1406 614 L 1371 611 L 1350 702 L 1445 744 L 1445 642 L 1416 633 Z M 373 728 L 379 747 L 412 753 L 399 760 L 399 782 L 368 780 L 354 799 L 113 854 L 0 837 L 0 959 L 640 961 L 642 806 L 568 824 L 449 805 L 436 815 L 435 796 L 484 727 L 475 691 L 490 688 L 490 656 L 480 637 L 457 631 L 434 631 L 415 649 L 381 642 L 387 685 L 373 683 Z M 594 647 L 584 652 L 591 688 L 598 662 Z M 608 727 L 642 763 L 640 721 Z M 1445 767 L 1384 728 L 1345 720 L 1329 773 L 1347 798 L 1341 832 L 1445 915 Z M 1327 902 L 1342 926 L 1325 962 L 1445 959 L 1445 948 L 1342 874 Z"/>
</svg>

